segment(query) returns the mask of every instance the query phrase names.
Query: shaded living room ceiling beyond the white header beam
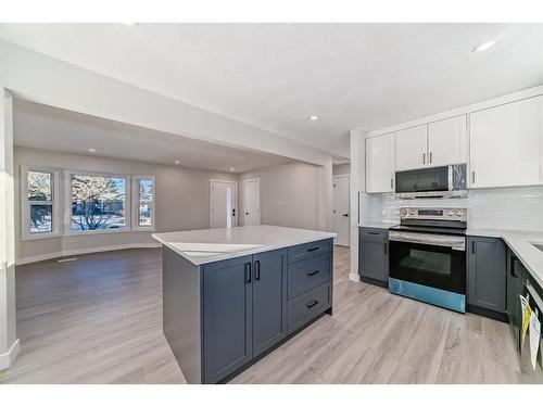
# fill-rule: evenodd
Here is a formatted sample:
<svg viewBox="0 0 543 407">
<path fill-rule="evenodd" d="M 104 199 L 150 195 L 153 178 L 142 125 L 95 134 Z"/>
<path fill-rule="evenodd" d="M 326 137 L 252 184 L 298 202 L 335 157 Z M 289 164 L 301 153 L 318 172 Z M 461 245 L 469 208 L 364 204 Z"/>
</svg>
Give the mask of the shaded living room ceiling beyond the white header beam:
<svg viewBox="0 0 543 407">
<path fill-rule="evenodd" d="M 14 144 L 66 153 L 244 173 L 290 160 L 15 99 Z M 89 149 L 96 149 L 94 153 Z"/>
</svg>

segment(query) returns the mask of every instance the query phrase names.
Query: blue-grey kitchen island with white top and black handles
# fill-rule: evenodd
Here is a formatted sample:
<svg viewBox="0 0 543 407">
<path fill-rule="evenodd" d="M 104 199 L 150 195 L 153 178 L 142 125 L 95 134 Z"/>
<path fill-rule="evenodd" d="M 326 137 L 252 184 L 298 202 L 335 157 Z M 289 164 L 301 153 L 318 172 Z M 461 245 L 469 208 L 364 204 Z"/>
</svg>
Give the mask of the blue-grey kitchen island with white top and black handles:
<svg viewBox="0 0 543 407">
<path fill-rule="evenodd" d="M 331 315 L 334 237 L 268 225 L 153 234 L 164 334 L 187 381 L 228 381 Z"/>
</svg>

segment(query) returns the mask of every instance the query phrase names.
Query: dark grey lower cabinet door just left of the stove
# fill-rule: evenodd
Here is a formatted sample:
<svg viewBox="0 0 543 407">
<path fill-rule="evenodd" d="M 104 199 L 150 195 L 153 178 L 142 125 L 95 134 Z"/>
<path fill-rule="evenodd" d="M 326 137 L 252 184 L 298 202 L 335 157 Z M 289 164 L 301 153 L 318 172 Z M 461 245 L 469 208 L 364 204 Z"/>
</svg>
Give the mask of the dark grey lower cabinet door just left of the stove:
<svg viewBox="0 0 543 407">
<path fill-rule="evenodd" d="M 389 242 L 382 236 L 371 237 L 371 230 L 365 228 L 359 232 L 359 274 L 362 277 L 379 281 L 389 280 Z M 376 233 L 379 233 L 376 231 Z M 381 231 L 381 233 L 386 233 Z"/>
</svg>

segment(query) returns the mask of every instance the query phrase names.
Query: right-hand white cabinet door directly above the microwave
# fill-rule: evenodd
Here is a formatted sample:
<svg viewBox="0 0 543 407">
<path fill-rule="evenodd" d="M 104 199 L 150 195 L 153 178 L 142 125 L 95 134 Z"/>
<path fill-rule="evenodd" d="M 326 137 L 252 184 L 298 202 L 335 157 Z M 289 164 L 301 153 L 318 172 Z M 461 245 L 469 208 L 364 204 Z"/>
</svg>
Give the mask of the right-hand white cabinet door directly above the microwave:
<svg viewBox="0 0 543 407">
<path fill-rule="evenodd" d="M 467 163 L 466 115 L 428 125 L 428 164 Z"/>
</svg>

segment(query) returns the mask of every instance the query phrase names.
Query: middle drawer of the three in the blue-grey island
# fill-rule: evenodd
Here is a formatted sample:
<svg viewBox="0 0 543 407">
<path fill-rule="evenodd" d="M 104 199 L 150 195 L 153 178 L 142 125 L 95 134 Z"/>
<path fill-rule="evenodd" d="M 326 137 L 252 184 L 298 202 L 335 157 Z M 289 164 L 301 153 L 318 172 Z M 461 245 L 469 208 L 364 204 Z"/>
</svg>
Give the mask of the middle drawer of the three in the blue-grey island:
<svg viewBox="0 0 543 407">
<path fill-rule="evenodd" d="M 331 279 L 331 255 L 323 254 L 288 268 L 288 297 L 292 298 Z"/>
</svg>

